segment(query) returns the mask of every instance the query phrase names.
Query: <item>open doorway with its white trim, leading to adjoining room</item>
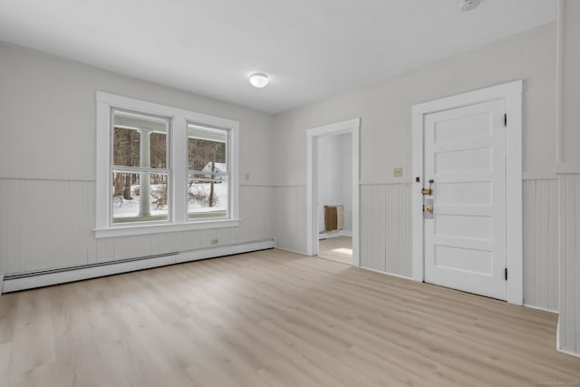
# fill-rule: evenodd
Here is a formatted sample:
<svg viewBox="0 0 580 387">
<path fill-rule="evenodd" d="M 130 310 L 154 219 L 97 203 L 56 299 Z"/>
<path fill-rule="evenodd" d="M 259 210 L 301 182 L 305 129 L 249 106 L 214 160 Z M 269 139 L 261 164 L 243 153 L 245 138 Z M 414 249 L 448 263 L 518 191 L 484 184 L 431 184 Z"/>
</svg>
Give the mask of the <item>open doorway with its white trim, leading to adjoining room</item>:
<svg viewBox="0 0 580 387">
<path fill-rule="evenodd" d="M 359 266 L 360 119 L 307 131 L 307 236 L 310 256 Z"/>
</svg>

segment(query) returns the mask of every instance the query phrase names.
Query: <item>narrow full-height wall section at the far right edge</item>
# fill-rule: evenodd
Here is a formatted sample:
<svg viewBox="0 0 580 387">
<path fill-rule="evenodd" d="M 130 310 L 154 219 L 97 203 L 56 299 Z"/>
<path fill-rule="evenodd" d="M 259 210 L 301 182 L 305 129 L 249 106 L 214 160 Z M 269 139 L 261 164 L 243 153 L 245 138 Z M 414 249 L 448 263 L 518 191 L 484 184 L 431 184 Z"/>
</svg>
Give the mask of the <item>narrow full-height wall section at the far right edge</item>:
<svg viewBox="0 0 580 387">
<path fill-rule="evenodd" d="M 558 348 L 580 356 L 580 2 L 558 9 L 560 320 Z"/>
</svg>

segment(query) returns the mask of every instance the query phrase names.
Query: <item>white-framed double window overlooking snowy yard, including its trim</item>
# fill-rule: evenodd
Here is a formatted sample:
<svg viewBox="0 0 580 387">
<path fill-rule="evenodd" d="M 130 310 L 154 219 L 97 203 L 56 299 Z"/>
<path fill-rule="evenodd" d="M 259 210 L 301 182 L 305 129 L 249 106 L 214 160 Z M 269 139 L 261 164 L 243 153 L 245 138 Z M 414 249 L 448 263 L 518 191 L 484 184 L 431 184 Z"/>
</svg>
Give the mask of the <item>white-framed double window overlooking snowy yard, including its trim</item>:
<svg viewBox="0 0 580 387">
<path fill-rule="evenodd" d="M 233 227 L 237 121 L 97 92 L 96 237 Z"/>
</svg>

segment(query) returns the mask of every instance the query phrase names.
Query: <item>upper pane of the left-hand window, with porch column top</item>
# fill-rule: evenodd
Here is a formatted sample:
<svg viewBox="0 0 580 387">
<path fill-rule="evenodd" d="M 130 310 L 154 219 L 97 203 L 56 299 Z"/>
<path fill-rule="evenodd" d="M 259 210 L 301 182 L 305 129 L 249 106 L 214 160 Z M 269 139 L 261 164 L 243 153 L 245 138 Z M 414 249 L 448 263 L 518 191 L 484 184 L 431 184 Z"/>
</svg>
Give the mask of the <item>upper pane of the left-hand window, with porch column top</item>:
<svg viewBox="0 0 580 387">
<path fill-rule="evenodd" d="M 167 168 L 167 119 L 115 111 L 113 123 L 113 165 Z"/>
</svg>

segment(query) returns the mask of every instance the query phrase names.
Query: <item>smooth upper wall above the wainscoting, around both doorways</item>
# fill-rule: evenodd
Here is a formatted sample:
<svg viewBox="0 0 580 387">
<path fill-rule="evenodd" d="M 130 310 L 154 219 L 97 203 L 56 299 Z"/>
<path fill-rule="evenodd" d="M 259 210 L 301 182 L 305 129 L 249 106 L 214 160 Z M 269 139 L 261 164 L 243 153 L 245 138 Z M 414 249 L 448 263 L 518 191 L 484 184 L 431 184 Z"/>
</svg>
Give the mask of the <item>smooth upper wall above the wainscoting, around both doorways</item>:
<svg viewBox="0 0 580 387">
<path fill-rule="evenodd" d="M 275 116 L 275 182 L 304 185 L 307 128 L 362 117 L 361 181 L 411 183 L 411 106 L 523 79 L 525 179 L 555 177 L 556 24 Z M 540 150 L 540 151 L 538 151 Z M 403 167 L 403 179 L 391 176 Z"/>
</svg>

